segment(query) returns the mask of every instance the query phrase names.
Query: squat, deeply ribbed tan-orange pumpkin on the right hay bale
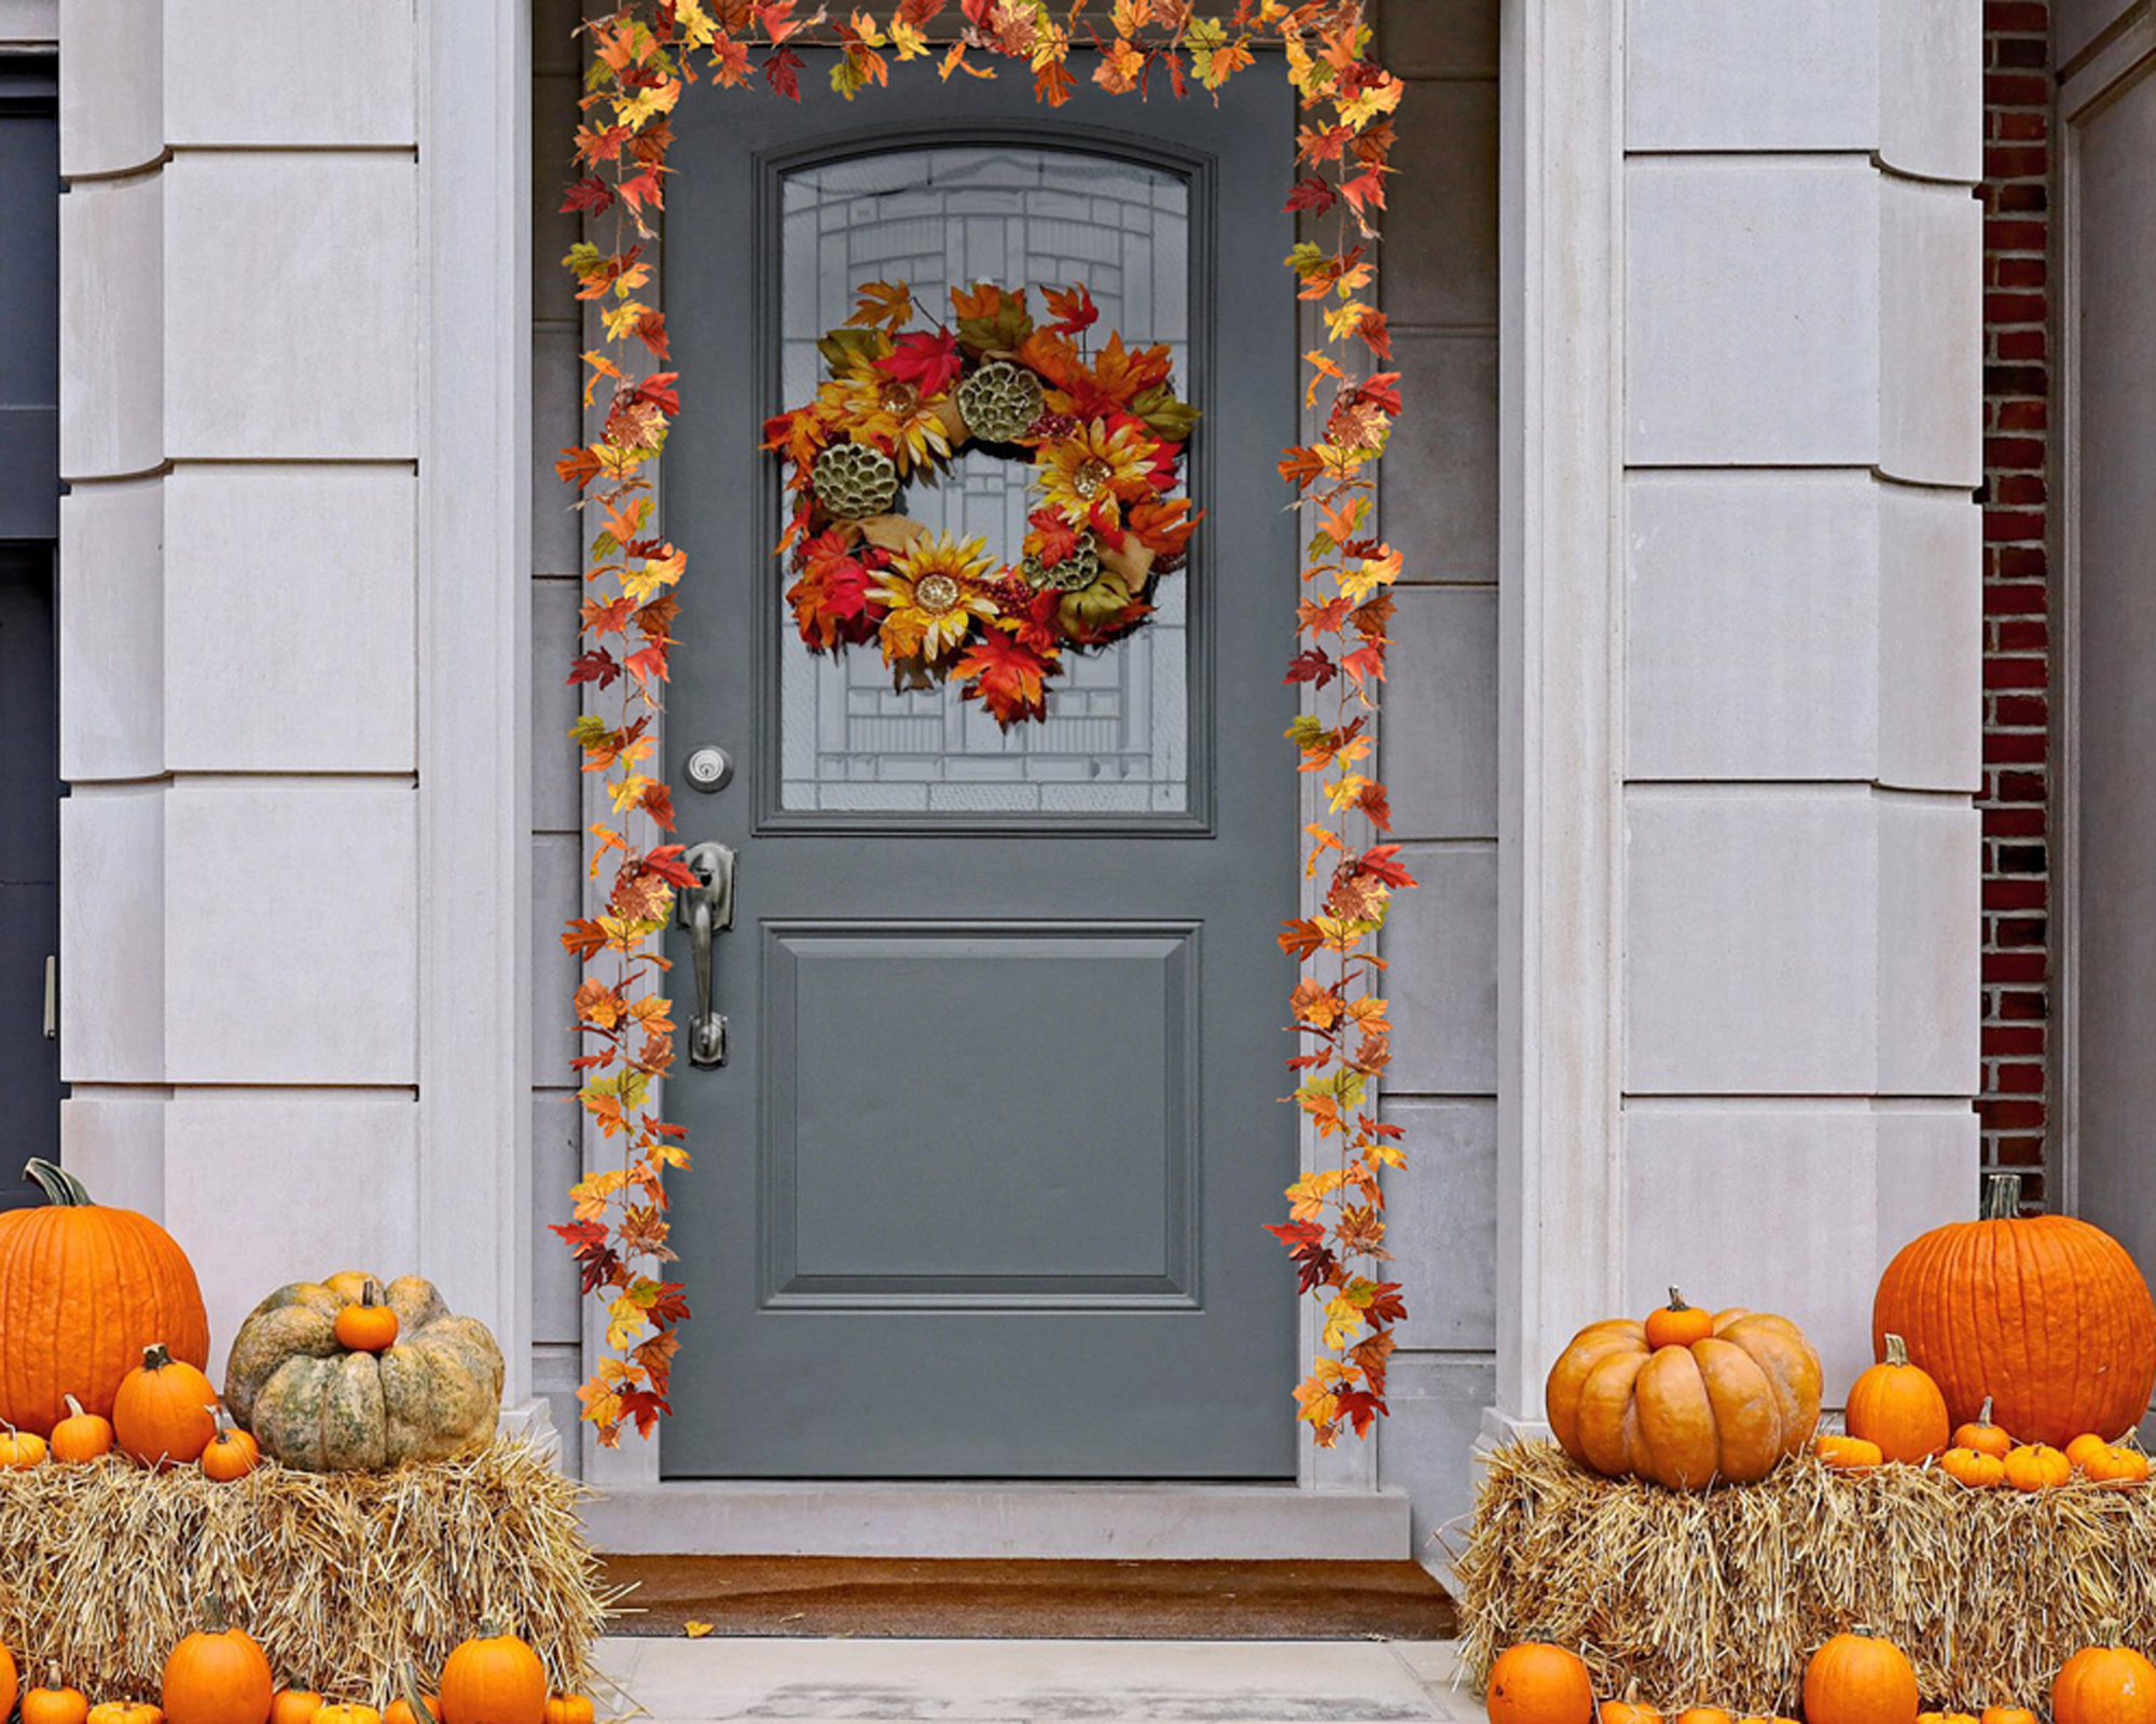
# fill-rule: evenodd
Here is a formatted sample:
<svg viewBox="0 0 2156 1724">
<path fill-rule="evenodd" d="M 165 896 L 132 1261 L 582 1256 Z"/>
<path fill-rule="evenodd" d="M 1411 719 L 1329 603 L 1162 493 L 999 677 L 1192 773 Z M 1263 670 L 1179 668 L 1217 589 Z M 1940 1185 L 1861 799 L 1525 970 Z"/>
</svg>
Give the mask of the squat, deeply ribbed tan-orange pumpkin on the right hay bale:
<svg viewBox="0 0 2156 1724">
<path fill-rule="evenodd" d="M 1565 1452 L 1608 1478 L 1677 1491 L 1749 1485 L 1811 1442 L 1820 1355 L 1787 1317 L 1720 1310 L 1690 1347 L 1649 1347 L 1628 1317 L 1589 1323 L 1544 1386 Z"/>
</svg>

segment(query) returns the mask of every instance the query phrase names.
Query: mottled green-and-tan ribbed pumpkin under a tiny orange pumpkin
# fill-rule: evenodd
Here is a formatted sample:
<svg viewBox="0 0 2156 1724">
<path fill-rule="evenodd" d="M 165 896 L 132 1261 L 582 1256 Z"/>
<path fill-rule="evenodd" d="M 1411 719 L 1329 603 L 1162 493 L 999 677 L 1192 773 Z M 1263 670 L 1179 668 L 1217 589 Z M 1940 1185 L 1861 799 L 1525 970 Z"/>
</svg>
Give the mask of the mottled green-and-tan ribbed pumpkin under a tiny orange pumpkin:
<svg viewBox="0 0 2156 1724">
<path fill-rule="evenodd" d="M 453 1317 L 431 1282 L 401 1276 L 384 1289 L 397 1345 L 354 1353 L 336 1319 L 371 1276 L 280 1287 L 233 1338 L 224 1405 L 263 1455 L 304 1472 L 373 1472 L 442 1461 L 494 1435 L 502 1409 L 502 1349 L 476 1317 Z"/>
</svg>

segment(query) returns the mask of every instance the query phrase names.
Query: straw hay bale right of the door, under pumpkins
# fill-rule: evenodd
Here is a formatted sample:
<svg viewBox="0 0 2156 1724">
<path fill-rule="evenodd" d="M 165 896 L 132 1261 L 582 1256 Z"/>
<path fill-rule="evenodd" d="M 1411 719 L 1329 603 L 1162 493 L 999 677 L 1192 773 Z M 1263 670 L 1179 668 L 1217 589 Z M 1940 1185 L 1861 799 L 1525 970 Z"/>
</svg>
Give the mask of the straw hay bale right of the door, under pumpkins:
<svg viewBox="0 0 2156 1724">
<path fill-rule="evenodd" d="M 1800 1455 L 1686 1493 L 1511 1444 L 1485 1457 L 1455 1575 L 1477 1685 L 1511 1642 L 1554 1640 L 1598 1694 L 1794 1715 L 1805 1659 L 1861 1623 L 1910 1655 L 1925 1705 L 2044 1709 L 2102 1621 L 2156 1642 L 2156 1489 L 1971 1491 Z"/>
</svg>

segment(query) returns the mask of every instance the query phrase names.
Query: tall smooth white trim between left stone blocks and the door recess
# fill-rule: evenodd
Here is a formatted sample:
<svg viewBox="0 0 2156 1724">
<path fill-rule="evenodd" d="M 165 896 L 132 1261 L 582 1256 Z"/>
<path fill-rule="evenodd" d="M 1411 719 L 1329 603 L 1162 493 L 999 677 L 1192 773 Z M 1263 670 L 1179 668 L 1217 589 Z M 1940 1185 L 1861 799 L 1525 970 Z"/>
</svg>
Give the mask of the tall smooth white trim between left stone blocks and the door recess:
<svg viewBox="0 0 2156 1724">
<path fill-rule="evenodd" d="M 418 1259 L 530 1396 L 530 6 L 420 9 Z"/>
</svg>

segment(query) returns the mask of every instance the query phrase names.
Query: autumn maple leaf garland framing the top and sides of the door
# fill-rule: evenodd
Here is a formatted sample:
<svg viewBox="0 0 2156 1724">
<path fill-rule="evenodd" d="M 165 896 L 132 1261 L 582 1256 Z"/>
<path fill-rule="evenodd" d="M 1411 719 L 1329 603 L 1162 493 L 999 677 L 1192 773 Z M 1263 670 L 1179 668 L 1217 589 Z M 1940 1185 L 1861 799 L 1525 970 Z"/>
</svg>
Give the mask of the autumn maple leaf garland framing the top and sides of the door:
<svg viewBox="0 0 2156 1724">
<path fill-rule="evenodd" d="M 1281 478 L 1315 528 L 1287 679 L 1307 685 L 1324 713 L 1304 711 L 1287 735 L 1317 787 L 1307 873 L 1322 873 L 1326 884 L 1315 914 L 1283 927 L 1281 946 L 1302 965 L 1289 1002 L 1302 1047 L 1291 1062 L 1294 1099 L 1313 1123 L 1322 1166 L 1289 1187 L 1289 1220 L 1272 1233 L 1287 1246 L 1302 1291 L 1322 1302 L 1319 1355 L 1296 1388 L 1313 1440 L 1330 1446 L 1343 1429 L 1365 1435 L 1386 1409 L 1393 1330 L 1406 1306 L 1399 1284 L 1382 1278 L 1382 1174 L 1404 1157 L 1399 1127 L 1376 1114 L 1373 1099 L 1391 1034 L 1376 993 L 1384 970 L 1376 937 L 1391 894 L 1414 881 L 1399 845 L 1384 840 L 1391 808 L 1384 784 L 1367 771 L 1393 614 L 1386 588 L 1401 573 L 1399 554 L 1369 532 L 1376 463 L 1401 412 L 1399 375 L 1378 369 L 1391 360 L 1391 334 L 1376 306 L 1369 241 L 1384 209 L 1391 114 L 1404 84 L 1369 58 L 1365 0 L 1240 0 L 1233 11 L 1192 0 L 1115 0 L 1106 32 L 1084 22 L 1087 11 L 1072 0 L 897 0 L 843 13 L 804 9 L 802 0 L 625 0 L 580 26 L 591 37 L 593 67 L 563 209 L 612 218 L 614 246 L 578 244 L 565 263 L 578 297 L 599 306 L 606 330 L 606 345 L 584 356 L 584 399 L 591 403 L 604 388 L 606 418 L 591 444 L 561 453 L 556 472 L 578 489 L 578 506 L 597 513 L 591 597 L 569 681 L 591 683 L 593 705 L 612 700 L 604 713 L 586 711 L 573 731 L 584 771 L 604 780 L 612 808 L 612 823 L 591 828 L 593 875 L 612 864 L 612 879 L 604 914 L 571 920 L 563 944 L 584 965 L 576 993 L 589 1049 L 576 1062 L 580 1101 L 617 1162 L 576 1183 L 573 1218 L 554 1231 L 576 1254 L 582 1291 L 606 1302 L 606 1349 L 578 1390 L 604 1446 L 614 1446 L 625 1424 L 649 1435 L 668 1412 L 677 1330 L 688 1319 L 681 1284 L 664 1271 L 675 1259 L 666 1172 L 686 1168 L 688 1151 L 681 1127 L 658 1116 L 653 1088 L 673 1065 L 658 940 L 675 888 L 692 884 L 692 875 L 681 845 L 671 840 L 666 784 L 642 771 L 653 759 L 651 726 L 679 610 L 673 588 L 686 569 L 686 556 L 651 532 L 649 470 L 681 403 L 677 377 L 664 369 L 666 317 L 640 297 L 651 284 L 649 215 L 664 207 L 668 114 L 683 91 L 709 78 L 722 88 L 763 86 L 798 99 L 806 65 L 798 50 L 817 28 L 839 50 L 832 88 L 847 99 L 888 84 L 893 62 L 931 60 L 942 80 L 994 78 L 998 62 L 1015 62 L 1031 71 L 1041 103 L 1061 106 L 1076 88 L 1074 50 L 1097 50 L 1091 78 L 1104 91 L 1184 97 L 1192 84 L 1218 91 L 1253 67 L 1257 45 L 1283 52 L 1302 106 L 1287 209 L 1307 224 L 1330 218 L 1337 237 L 1330 248 L 1304 239 L 1287 256 L 1300 297 L 1322 312 L 1326 332 L 1324 345 L 1304 356 L 1307 405 L 1330 390 L 1322 435 L 1281 459 Z M 936 394 L 955 381 L 953 364 L 962 371 L 964 358 L 936 332 L 901 334 L 908 319 L 897 317 L 899 304 L 897 284 L 871 289 L 856 328 L 882 330 L 890 347 L 880 358 L 901 366 L 890 375 Z M 1050 300 L 1050 317 L 1074 310 L 1076 300 Z M 918 448 L 929 450 L 927 429 L 916 431 Z M 912 444 L 908 455 L 914 459 Z M 815 539 L 811 530 L 806 543 Z M 962 545 L 946 554 L 964 562 Z M 949 571 L 929 573 L 957 584 Z M 800 575 L 811 575 L 806 560 Z M 839 588 L 856 580 L 830 560 L 817 578 Z M 839 588 L 828 638 L 826 599 L 796 603 L 796 616 L 824 646 L 862 627 L 860 616 L 845 616 L 852 595 Z M 981 698 L 994 679 L 996 700 L 1013 720 L 1039 711 L 1050 675 L 1037 655 L 1026 662 L 1015 651 L 1022 644 L 1018 634 L 981 629 L 968 651 L 1000 655 L 1000 664 L 953 666 L 953 675 L 983 683 Z"/>
</svg>

